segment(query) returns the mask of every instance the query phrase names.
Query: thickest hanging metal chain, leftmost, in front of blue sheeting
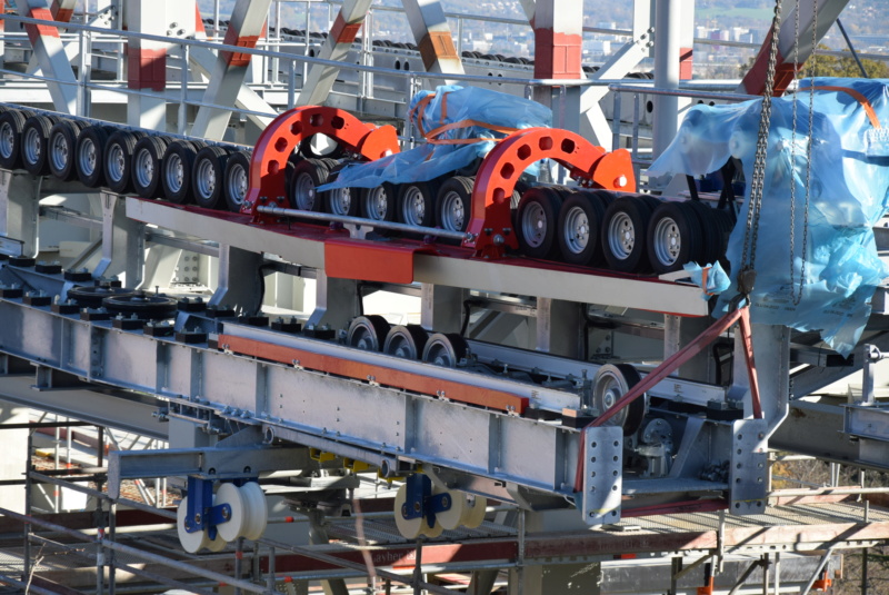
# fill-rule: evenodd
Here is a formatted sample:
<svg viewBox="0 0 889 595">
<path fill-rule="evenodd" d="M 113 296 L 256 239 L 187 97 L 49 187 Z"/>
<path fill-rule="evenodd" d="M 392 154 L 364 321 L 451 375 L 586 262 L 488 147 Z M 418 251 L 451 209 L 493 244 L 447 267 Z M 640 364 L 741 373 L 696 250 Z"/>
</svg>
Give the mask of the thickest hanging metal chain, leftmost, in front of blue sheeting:
<svg viewBox="0 0 889 595">
<path fill-rule="evenodd" d="M 741 269 L 738 271 L 738 291 L 749 296 L 756 280 L 757 240 L 759 236 L 759 215 L 762 207 L 762 189 L 766 179 L 766 157 L 769 148 L 769 129 L 771 128 L 771 98 L 775 86 L 775 67 L 778 58 L 778 36 L 781 29 L 781 0 L 775 0 L 775 18 L 772 19 L 769 62 L 766 72 L 766 90 L 762 92 L 762 109 L 759 116 L 759 133 L 753 157 L 753 172 L 750 181 L 750 201 L 747 208 L 747 229 L 743 237 Z"/>
</svg>

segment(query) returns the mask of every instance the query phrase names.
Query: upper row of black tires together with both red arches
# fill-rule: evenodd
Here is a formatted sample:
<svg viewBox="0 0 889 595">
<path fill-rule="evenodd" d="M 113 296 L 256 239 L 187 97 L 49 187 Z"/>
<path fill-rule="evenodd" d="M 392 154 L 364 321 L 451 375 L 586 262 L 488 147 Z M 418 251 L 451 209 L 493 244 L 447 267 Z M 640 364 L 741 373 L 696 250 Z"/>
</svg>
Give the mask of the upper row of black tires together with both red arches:
<svg viewBox="0 0 889 595">
<path fill-rule="evenodd" d="M 461 170 L 428 181 L 318 191 L 350 163 L 398 150 L 391 127 L 367 125 L 323 107 L 282 113 L 247 150 L 13 108 L 0 113 L 0 167 L 7 169 L 249 214 L 262 222 L 277 217 L 257 208 L 277 206 L 329 214 L 331 220 L 361 217 L 417 228 L 417 234 L 402 232 L 407 238 L 434 237 L 438 227 L 467 232 L 462 245 L 476 257 L 517 254 L 660 275 L 687 262 L 722 259 L 733 227 L 730 206 L 632 194 L 626 151 L 607 152 L 559 129 L 513 132 L 473 166 L 475 175 Z M 560 163 L 580 186 L 520 184 L 522 171 L 542 159 Z"/>
</svg>

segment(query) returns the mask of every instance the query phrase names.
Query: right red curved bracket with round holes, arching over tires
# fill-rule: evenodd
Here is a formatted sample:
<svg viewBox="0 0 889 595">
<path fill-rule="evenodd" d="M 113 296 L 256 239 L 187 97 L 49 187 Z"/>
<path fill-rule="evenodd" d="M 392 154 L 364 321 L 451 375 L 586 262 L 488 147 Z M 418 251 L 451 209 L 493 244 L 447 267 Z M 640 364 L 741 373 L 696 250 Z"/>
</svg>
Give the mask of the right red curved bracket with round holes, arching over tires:
<svg viewBox="0 0 889 595">
<path fill-rule="evenodd" d="M 611 153 L 568 130 L 528 128 L 512 132 L 489 152 L 476 176 L 467 231 L 472 239 L 463 246 L 477 256 L 500 258 L 508 246 L 518 248 L 512 230 L 510 199 L 521 173 L 541 159 L 553 159 L 570 170 L 571 177 L 587 185 L 633 191 L 636 180 L 630 153 Z"/>
</svg>

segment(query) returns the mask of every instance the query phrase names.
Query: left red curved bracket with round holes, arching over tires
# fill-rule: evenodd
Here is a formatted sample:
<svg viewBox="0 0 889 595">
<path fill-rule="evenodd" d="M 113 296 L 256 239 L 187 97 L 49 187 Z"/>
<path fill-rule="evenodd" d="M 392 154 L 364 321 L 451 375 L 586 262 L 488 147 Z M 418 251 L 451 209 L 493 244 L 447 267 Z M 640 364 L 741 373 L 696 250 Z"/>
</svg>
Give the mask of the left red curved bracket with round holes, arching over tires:
<svg viewBox="0 0 889 595">
<path fill-rule="evenodd" d="M 327 135 L 350 152 L 368 160 L 399 151 L 391 126 L 364 123 L 348 111 L 307 106 L 278 116 L 259 136 L 250 160 L 250 188 L 241 212 L 257 216 L 260 205 L 287 206 L 287 159 L 302 139 Z"/>
</svg>

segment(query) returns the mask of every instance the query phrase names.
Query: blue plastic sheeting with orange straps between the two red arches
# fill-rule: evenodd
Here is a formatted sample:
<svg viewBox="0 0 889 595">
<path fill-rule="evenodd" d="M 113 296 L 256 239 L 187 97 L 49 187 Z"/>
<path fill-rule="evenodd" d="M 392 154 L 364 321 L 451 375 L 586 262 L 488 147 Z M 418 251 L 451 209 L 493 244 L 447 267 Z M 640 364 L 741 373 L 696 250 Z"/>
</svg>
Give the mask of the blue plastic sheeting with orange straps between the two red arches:
<svg viewBox="0 0 889 595">
<path fill-rule="evenodd" d="M 432 98 L 422 109 L 417 109 L 428 96 Z M 552 123 L 552 111 L 536 101 L 490 89 L 455 85 L 438 87 L 434 92 L 420 91 L 413 96 L 410 109 L 413 126 L 424 135 L 449 123 L 463 122 L 466 126 L 434 135 L 430 143 L 409 151 L 348 166 L 340 171 L 336 181 L 319 186 L 318 190 L 428 181 L 452 173 L 476 158 L 488 155 L 495 146 L 495 139 L 507 136 L 505 129 L 549 127 Z M 477 141 L 452 142 L 465 139 Z"/>
</svg>

